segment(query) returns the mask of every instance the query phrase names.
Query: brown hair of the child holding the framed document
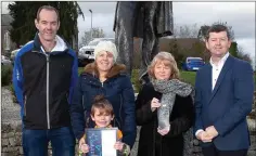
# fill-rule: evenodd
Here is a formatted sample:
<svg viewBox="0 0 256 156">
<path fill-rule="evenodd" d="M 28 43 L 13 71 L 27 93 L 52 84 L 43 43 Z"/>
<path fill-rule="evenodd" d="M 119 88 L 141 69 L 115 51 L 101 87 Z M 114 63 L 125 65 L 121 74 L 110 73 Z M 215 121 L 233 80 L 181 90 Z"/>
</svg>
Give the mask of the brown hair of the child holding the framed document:
<svg viewBox="0 0 256 156">
<path fill-rule="evenodd" d="M 104 95 L 97 95 L 91 106 L 91 116 L 94 116 L 95 109 L 100 109 L 100 115 L 114 115 L 112 104 L 104 98 Z"/>
</svg>

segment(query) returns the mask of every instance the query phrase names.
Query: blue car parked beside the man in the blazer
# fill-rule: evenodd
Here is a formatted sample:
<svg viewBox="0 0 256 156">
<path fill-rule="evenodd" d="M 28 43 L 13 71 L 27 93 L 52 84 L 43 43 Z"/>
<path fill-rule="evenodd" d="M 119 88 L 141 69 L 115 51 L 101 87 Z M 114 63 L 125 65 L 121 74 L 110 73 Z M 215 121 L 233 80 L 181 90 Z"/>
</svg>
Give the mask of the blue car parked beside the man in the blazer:
<svg viewBox="0 0 256 156">
<path fill-rule="evenodd" d="M 183 70 L 199 70 L 205 62 L 202 57 L 187 57 L 185 63 L 182 64 Z"/>
</svg>

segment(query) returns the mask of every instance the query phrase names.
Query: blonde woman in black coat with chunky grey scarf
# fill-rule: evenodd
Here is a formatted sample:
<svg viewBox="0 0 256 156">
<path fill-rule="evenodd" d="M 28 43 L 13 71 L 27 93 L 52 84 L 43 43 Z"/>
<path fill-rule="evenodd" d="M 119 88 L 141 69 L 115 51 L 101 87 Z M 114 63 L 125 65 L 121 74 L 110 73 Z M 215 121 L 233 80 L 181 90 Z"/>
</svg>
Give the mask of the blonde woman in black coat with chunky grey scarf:
<svg viewBox="0 0 256 156">
<path fill-rule="evenodd" d="M 137 125 L 141 126 L 138 156 L 184 156 L 194 121 L 190 84 L 179 81 L 172 55 L 159 52 L 149 66 L 151 82 L 136 101 Z M 185 135 L 187 134 L 187 135 Z"/>
</svg>

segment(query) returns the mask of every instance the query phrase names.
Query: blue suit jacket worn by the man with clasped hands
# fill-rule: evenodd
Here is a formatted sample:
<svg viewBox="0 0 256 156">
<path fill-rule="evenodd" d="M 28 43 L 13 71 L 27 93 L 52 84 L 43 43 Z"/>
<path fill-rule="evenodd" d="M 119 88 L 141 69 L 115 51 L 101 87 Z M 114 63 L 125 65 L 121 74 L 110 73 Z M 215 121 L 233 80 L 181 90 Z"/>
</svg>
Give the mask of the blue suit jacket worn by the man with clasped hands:
<svg viewBox="0 0 256 156">
<path fill-rule="evenodd" d="M 248 148 L 246 116 L 253 104 L 252 66 L 229 55 L 212 91 L 212 65 L 207 64 L 196 74 L 195 92 L 194 132 L 214 126 L 219 134 L 213 143 L 218 150 Z M 202 143 L 202 146 L 209 144 Z"/>
</svg>

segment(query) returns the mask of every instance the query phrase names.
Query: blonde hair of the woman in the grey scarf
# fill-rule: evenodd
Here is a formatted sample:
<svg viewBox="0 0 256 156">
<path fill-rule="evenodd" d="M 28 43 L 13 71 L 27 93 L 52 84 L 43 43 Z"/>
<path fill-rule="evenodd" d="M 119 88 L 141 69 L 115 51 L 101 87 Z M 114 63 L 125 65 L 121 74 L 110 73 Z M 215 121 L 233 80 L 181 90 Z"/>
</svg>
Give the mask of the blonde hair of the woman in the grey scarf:
<svg viewBox="0 0 256 156">
<path fill-rule="evenodd" d="M 159 52 L 156 54 L 151 62 L 150 66 L 148 67 L 148 74 L 155 79 L 154 67 L 157 63 L 163 62 L 165 66 L 169 66 L 171 69 L 170 78 L 169 79 L 179 79 L 179 68 L 175 61 L 175 57 L 168 52 Z"/>
</svg>

